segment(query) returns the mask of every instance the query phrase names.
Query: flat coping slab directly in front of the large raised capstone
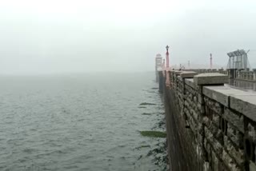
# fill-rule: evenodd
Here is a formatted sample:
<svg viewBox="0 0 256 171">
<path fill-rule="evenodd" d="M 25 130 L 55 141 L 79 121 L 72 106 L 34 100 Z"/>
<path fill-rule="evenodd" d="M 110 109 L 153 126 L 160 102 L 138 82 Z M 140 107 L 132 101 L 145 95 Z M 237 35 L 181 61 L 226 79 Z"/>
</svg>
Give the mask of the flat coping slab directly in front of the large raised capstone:
<svg viewBox="0 0 256 171">
<path fill-rule="evenodd" d="M 206 97 L 210 97 L 222 105 L 225 105 L 226 107 L 230 107 L 229 97 L 231 95 L 250 95 L 250 93 L 246 91 L 233 89 L 225 85 L 203 86 L 202 93 Z"/>
</svg>

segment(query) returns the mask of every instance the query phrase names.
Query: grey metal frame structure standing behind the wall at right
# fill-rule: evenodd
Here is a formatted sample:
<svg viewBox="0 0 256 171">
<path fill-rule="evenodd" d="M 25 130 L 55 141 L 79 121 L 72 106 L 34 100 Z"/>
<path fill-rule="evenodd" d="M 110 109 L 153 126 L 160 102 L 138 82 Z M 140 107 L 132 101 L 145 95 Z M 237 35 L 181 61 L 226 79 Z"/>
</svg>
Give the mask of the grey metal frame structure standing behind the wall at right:
<svg viewBox="0 0 256 171">
<path fill-rule="evenodd" d="M 236 50 L 228 53 L 230 57 L 226 66 L 226 70 L 229 70 L 230 78 L 236 78 L 236 70 L 250 70 L 250 63 L 247 57 L 249 50 Z"/>
</svg>

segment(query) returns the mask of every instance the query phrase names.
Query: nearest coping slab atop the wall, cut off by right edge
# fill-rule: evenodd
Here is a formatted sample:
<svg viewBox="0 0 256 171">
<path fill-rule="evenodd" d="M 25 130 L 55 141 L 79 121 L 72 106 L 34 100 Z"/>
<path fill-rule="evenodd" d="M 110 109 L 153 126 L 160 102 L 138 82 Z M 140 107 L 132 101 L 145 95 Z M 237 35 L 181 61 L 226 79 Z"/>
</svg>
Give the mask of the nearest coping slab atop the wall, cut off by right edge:
<svg viewBox="0 0 256 171">
<path fill-rule="evenodd" d="M 230 108 L 256 121 L 256 94 L 231 95 Z"/>
</svg>

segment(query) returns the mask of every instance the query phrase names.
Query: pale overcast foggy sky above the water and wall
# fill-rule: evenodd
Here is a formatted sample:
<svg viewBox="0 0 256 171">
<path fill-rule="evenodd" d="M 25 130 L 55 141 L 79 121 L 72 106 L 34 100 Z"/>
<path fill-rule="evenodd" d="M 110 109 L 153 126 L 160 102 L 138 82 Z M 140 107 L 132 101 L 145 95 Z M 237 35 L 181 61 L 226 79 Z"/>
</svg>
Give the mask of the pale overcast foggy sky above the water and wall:
<svg viewBox="0 0 256 171">
<path fill-rule="evenodd" d="M 250 50 L 256 67 L 256 1 L 2 0 L 0 74 L 154 70 L 225 66 L 227 52 Z"/>
</svg>

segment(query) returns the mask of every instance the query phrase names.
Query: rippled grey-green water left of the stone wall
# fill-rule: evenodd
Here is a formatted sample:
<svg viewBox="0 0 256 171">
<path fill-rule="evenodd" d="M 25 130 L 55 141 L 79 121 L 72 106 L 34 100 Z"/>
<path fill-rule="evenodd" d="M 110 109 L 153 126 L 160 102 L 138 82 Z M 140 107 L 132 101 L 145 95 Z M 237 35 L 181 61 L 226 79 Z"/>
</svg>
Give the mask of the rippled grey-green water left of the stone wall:
<svg viewBox="0 0 256 171">
<path fill-rule="evenodd" d="M 0 170 L 166 166 L 158 160 L 166 153 L 152 155 L 165 138 L 139 133 L 164 130 L 154 73 L 2 77 L 0 82 Z M 142 102 L 156 105 L 139 108 Z"/>
</svg>

